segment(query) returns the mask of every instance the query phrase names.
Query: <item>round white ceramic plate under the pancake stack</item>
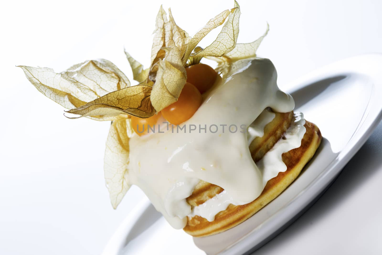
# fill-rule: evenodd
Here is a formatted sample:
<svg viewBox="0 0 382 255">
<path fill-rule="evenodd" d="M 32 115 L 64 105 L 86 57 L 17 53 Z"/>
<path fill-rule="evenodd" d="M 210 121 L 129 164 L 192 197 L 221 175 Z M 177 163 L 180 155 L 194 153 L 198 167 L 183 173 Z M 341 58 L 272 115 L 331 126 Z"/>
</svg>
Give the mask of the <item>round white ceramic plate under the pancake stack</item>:
<svg viewBox="0 0 382 255">
<path fill-rule="evenodd" d="M 104 254 L 244 254 L 288 226 L 334 180 L 380 122 L 382 54 L 333 63 L 288 87 L 296 110 L 317 124 L 324 139 L 282 194 L 235 228 L 198 238 L 172 229 L 144 200 L 123 221 Z"/>
</svg>

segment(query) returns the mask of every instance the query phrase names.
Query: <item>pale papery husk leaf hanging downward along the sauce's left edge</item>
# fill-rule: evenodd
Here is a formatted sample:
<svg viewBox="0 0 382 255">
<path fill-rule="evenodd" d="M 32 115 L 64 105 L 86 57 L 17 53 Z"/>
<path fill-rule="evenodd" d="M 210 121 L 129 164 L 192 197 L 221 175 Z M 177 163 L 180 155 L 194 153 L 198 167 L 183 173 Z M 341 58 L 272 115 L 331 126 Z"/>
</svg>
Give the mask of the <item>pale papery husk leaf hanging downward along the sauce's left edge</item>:
<svg viewBox="0 0 382 255">
<path fill-rule="evenodd" d="M 117 208 L 130 187 L 128 180 L 129 137 L 127 123 L 130 119 L 113 121 L 106 141 L 104 172 L 106 187 L 113 208 Z"/>
</svg>

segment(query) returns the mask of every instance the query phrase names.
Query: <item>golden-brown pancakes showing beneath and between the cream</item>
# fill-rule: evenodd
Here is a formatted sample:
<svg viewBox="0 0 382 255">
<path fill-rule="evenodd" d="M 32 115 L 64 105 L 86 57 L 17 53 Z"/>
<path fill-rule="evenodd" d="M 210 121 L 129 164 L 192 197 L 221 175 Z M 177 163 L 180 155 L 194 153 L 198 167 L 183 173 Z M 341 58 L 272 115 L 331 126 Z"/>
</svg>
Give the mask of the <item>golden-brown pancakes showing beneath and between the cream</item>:
<svg viewBox="0 0 382 255">
<path fill-rule="evenodd" d="M 260 160 L 274 144 L 281 139 L 283 133 L 288 129 L 293 118 L 293 112 L 276 113 L 275 118 L 264 128 L 264 136 L 257 137 L 249 146 L 251 155 L 255 162 Z M 224 211 L 220 211 L 214 221 L 210 222 L 201 216 L 188 218 L 184 230 L 191 236 L 209 236 L 223 232 L 242 223 L 270 201 L 275 199 L 286 189 L 299 175 L 303 167 L 313 157 L 320 145 L 322 136 L 318 127 L 308 121 L 305 123 L 306 132 L 301 140 L 301 146 L 282 154 L 283 162 L 287 169 L 270 179 L 264 187 L 261 195 L 253 202 L 245 205 L 232 205 Z M 187 198 L 191 207 L 206 202 L 208 199 L 222 192 L 219 186 L 201 181 L 194 188 L 193 194 Z"/>
</svg>

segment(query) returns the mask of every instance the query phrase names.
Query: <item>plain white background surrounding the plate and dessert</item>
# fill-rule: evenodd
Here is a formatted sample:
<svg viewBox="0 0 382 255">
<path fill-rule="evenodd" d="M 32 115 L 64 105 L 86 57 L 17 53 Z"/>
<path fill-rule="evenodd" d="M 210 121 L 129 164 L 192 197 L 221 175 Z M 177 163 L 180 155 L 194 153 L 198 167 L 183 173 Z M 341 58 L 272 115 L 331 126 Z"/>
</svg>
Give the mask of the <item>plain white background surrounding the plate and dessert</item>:
<svg viewBox="0 0 382 255">
<path fill-rule="evenodd" d="M 190 34 L 233 6 L 232 0 L 162 3 Z M 239 3 L 238 42 L 253 41 L 269 22 L 258 53 L 274 62 L 282 89 L 333 61 L 382 52 L 379 0 Z M 102 169 L 110 123 L 66 119 L 63 107 L 40 94 L 15 65 L 63 71 L 105 58 L 131 77 L 123 47 L 149 64 L 159 5 L 143 0 L 2 3 L 0 254 L 99 254 L 144 196 L 133 187 L 112 209 Z M 338 114 L 351 118 L 351 113 Z M 381 137 L 382 124 L 321 199 L 257 253 L 380 254 Z"/>
</svg>

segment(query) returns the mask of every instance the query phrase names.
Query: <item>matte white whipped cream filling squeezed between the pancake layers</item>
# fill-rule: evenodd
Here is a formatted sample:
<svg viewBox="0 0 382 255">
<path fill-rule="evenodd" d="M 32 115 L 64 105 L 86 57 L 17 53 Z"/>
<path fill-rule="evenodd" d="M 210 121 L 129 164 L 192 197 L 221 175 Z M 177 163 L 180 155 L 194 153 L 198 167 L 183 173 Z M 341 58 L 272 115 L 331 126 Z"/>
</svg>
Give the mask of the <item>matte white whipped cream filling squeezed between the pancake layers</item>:
<svg viewBox="0 0 382 255">
<path fill-rule="evenodd" d="M 283 139 L 278 140 L 274 147 L 265 153 L 264 157 L 257 162 L 257 167 L 262 174 L 263 189 L 270 179 L 276 177 L 279 172 L 286 171 L 286 165 L 282 161 L 282 154 L 301 146 L 301 139 L 303 139 L 306 132 L 304 124 L 305 120 L 303 114 L 295 113 L 290 127 L 283 135 Z M 264 132 L 262 136 L 263 135 Z M 227 209 L 230 204 L 243 205 L 243 203 L 240 203 L 231 197 L 226 190 L 223 190 L 223 192 L 215 195 L 212 199 L 194 207 L 188 216 L 193 217 L 199 215 L 206 218 L 208 221 L 213 221 L 215 215 L 220 211 Z"/>
</svg>

